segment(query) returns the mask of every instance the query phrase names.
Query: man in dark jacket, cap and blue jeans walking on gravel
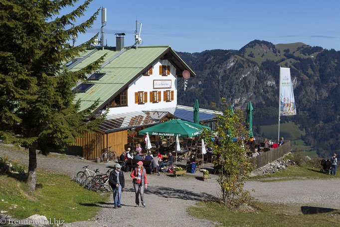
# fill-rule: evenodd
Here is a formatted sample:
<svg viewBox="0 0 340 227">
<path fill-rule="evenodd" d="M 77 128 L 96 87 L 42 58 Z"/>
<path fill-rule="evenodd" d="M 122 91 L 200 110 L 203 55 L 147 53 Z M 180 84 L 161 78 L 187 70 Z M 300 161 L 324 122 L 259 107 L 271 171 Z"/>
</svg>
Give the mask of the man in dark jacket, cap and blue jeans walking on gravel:
<svg viewBox="0 0 340 227">
<path fill-rule="evenodd" d="M 113 190 L 113 199 L 115 201 L 114 208 L 116 209 L 121 208 L 121 198 L 122 198 L 122 192 L 124 191 L 125 187 L 125 179 L 123 171 L 121 171 L 122 166 L 119 164 L 116 164 L 116 169 L 111 171 L 110 178 L 109 178 L 109 184 Z"/>
</svg>

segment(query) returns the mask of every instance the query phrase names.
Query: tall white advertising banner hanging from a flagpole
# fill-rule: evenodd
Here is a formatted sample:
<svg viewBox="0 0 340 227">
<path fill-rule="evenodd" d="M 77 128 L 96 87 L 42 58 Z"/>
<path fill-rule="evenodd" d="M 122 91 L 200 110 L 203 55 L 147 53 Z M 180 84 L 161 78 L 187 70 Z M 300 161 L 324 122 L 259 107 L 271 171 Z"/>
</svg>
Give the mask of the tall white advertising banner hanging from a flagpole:
<svg viewBox="0 0 340 227">
<path fill-rule="evenodd" d="M 280 115 L 296 115 L 290 68 L 280 67 Z"/>
</svg>

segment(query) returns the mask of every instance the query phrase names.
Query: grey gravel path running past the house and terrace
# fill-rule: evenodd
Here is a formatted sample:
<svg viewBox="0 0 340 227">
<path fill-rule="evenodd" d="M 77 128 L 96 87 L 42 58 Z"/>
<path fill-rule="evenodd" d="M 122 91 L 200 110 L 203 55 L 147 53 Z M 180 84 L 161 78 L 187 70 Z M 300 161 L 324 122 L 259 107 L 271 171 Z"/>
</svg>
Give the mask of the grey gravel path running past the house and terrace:
<svg viewBox="0 0 340 227">
<path fill-rule="evenodd" d="M 0 146 L 0 156 L 6 155 L 11 160 L 28 163 L 28 152 L 8 149 Z M 47 157 L 38 155 L 38 168 L 57 173 L 72 175 L 83 166 L 90 169 L 100 168 L 106 170 L 109 164 L 97 164 L 77 158 L 52 154 Z M 122 195 L 122 208 L 113 209 L 113 200 L 107 204 L 98 204 L 102 207 L 96 216 L 95 222 L 77 222 L 67 224 L 66 227 L 206 227 L 214 223 L 200 220 L 187 215 L 186 209 L 194 206 L 196 202 L 215 197 L 219 191 L 216 180 L 208 182 L 196 178 L 177 179 L 162 174 L 148 175 L 150 185 L 145 190 L 147 208 L 135 208 L 135 192 L 129 173 L 125 173 L 126 189 Z M 263 202 L 297 203 L 308 206 L 340 209 L 340 180 L 299 180 L 281 182 L 249 181 L 245 185 L 247 190 L 255 190 L 252 195 Z"/>
</svg>

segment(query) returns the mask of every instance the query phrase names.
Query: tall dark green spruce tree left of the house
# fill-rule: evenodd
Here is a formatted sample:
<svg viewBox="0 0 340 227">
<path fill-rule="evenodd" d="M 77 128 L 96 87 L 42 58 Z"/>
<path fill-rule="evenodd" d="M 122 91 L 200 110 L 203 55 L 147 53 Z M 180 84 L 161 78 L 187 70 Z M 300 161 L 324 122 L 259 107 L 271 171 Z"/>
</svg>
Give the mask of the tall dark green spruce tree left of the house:
<svg viewBox="0 0 340 227">
<path fill-rule="evenodd" d="M 98 101 L 79 111 L 72 88 L 99 68 L 103 57 L 78 71 L 64 63 L 89 47 L 94 38 L 70 46 L 72 36 L 85 33 L 99 9 L 72 28 L 92 0 L 74 8 L 77 0 L 0 1 L 0 137 L 28 149 L 27 184 L 36 184 L 36 149 L 47 155 L 50 148 L 64 150 L 84 131 L 95 129 L 105 118 L 88 121 Z M 60 10 L 73 11 L 60 15 Z"/>
</svg>

